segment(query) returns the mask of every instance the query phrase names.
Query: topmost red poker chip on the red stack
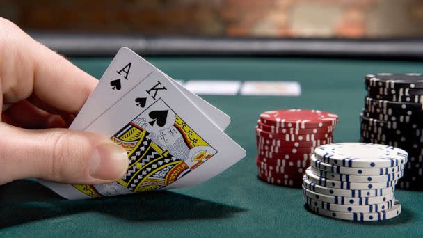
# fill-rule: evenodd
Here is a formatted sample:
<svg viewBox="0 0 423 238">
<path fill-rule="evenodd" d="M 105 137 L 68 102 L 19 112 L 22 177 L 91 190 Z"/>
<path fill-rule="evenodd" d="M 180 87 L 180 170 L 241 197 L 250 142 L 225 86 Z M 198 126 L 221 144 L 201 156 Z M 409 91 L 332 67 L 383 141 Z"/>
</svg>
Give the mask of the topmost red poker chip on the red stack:
<svg viewBox="0 0 423 238">
<path fill-rule="evenodd" d="M 319 110 L 288 109 L 265 111 L 260 114 L 260 122 L 264 125 L 288 128 L 318 128 L 335 126 L 338 116 L 334 113 Z"/>
</svg>

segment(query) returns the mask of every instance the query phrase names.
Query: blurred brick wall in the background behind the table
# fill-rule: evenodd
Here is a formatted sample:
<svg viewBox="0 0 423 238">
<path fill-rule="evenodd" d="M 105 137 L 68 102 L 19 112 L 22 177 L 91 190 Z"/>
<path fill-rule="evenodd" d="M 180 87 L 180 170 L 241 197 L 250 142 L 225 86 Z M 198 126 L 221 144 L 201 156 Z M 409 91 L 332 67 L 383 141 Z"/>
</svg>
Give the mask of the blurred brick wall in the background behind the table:
<svg viewBox="0 0 423 238">
<path fill-rule="evenodd" d="M 2 0 L 25 30 L 212 36 L 423 36 L 423 0 Z"/>
</svg>

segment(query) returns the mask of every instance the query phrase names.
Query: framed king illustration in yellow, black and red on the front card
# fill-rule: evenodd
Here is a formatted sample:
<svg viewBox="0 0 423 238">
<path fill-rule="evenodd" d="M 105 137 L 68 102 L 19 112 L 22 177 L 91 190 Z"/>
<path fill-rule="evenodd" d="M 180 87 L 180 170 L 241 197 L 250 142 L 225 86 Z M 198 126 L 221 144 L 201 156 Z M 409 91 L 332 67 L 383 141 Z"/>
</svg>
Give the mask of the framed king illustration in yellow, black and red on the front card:
<svg viewBox="0 0 423 238">
<path fill-rule="evenodd" d="M 73 185 L 88 196 L 163 189 L 217 153 L 162 100 L 154 102 L 111 140 L 127 151 L 127 173 L 111 184 Z"/>
</svg>

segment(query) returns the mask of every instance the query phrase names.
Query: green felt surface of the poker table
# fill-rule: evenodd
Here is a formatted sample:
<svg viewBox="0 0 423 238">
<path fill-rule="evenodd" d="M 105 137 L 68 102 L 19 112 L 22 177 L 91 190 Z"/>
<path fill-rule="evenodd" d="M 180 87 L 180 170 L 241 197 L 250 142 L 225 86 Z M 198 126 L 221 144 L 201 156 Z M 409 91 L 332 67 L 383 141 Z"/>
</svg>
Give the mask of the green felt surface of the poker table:
<svg viewBox="0 0 423 238">
<path fill-rule="evenodd" d="M 104 237 L 419 237 L 423 192 L 397 190 L 401 215 L 353 223 L 311 214 L 301 189 L 257 179 L 255 123 L 262 111 L 307 108 L 340 116 L 335 141 L 358 141 L 363 77 L 372 72 L 419 72 L 423 64 L 321 58 L 149 57 L 175 79 L 299 81 L 299 97 L 204 96 L 232 118 L 226 133 L 247 156 L 195 187 L 97 200 L 64 200 L 35 182 L 0 187 L 0 236 Z M 72 58 L 99 78 L 111 58 Z"/>
</svg>

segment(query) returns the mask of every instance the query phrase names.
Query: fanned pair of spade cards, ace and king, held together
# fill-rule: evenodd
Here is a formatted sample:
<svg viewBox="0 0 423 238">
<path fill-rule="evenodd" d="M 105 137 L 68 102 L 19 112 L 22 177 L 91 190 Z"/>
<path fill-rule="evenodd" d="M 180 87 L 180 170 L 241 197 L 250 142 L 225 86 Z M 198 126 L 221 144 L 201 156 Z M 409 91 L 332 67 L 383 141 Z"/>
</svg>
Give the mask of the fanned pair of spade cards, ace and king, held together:
<svg viewBox="0 0 423 238">
<path fill-rule="evenodd" d="M 150 65 L 145 62 L 122 48 L 83 106 L 89 108 L 71 126 L 109 136 L 125 148 L 129 168 L 124 177 L 111 184 L 41 184 L 68 199 L 175 189 L 204 182 L 245 157 L 245 150 L 223 132 L 224 113 L 154 67 L 145 72 Z M 132 88 L 111 84 L 118 75 L 131 80 Z M 122 91 L 113 95 L 117 85 Z"/>
</svg>

